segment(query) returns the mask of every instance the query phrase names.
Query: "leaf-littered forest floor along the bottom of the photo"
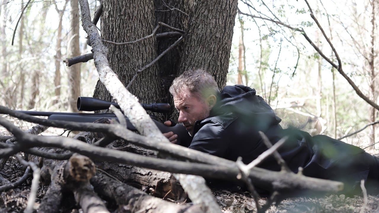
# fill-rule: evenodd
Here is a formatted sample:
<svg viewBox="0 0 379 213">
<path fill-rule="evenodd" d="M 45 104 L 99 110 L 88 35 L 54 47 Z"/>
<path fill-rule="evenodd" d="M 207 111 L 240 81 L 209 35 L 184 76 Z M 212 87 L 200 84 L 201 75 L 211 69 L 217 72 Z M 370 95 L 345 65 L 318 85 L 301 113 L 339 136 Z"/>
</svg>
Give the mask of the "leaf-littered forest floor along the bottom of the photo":
<svg viewBox="0 0 379 213">
<path fill-rule="evenodd" d="M 15 182 L 23 175 L 25 166 L 21 165 L 17 159 L 11 159 L 6 163 L 1 174 L 11 182 Z M 16 189 L 8 190 L 0 194 L 0 212 L 16 213 L 21 212 L 27 204 L 27 197 L 30 192 L 31 177 Z M 42 197 L 45 195 L 47 186 L 42 186 L 38 190 L 36 206 L 38 208 Z M 250 193 L 231 193 L 226 190 L 213 191 L 220 204 L 222 211 L 225 213 L 243 213 L 256 212 L 254 199 Z M 262 206 L 266 199 L 259 200 Z M 80 210 L 72 211 L 75 207 L 64 205 L 62 213 L 76 213 Z M 364 207 L 363 207 L 364 206 Z M 363 211 L 361 211 L 363 208 Z M 278 206 L 271 206 L 266 213 L 379 213 L 379 195 L 368 196 L 368 202 L 364 205 L 362 196 L 347 197 L 341 195 L 329 195 L 323 197 L 295 197 L 285 199 Z"/>
</svg>

